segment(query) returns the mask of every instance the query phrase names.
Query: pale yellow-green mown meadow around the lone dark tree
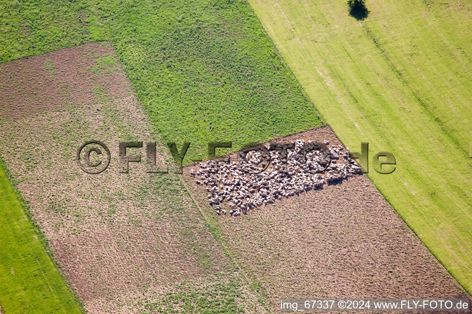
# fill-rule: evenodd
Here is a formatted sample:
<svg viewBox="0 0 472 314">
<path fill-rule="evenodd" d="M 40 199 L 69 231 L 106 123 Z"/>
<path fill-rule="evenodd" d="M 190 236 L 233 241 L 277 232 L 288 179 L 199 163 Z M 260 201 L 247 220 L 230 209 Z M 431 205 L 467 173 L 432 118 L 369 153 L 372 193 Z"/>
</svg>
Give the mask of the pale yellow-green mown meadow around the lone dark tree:
<svg viewBox="0 0 472 314">
<path fill-rule="evenodd" d="M 396 156 L 369 177 L 472 292 L 471 4 L 250 0 L 324 119 L 351 151 Z"/>
</svg>

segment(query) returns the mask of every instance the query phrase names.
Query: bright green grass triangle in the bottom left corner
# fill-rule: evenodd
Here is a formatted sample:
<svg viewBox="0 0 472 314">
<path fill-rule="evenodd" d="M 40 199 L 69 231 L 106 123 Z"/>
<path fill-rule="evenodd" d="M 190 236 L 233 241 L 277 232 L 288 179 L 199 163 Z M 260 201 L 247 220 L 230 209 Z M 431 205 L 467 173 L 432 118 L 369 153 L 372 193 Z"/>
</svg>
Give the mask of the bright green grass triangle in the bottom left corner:
<svg viewBox="0 0 472 314">
<path fill-rule="evenodd" d="M 0 164 L 0 306 L 9 313 L 82 313 Z"/>
</svg>

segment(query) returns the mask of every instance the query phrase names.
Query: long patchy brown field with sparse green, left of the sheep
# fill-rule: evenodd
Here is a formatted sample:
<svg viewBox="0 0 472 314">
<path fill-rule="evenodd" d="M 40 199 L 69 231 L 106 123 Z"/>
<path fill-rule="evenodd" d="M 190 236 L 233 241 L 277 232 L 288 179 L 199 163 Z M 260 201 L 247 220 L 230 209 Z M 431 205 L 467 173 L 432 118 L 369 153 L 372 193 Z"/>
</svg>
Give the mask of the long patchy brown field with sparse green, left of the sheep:
<svg viewBox="0 0 472 314">
<path fill-rule="evenodd" d="M 110 46 L 1 64 L 0 95 L 10 180 L 88 313 L 266 311 L 176 174 L 146 173 L 144 162 L 119 173 L 120 141 L 157 142 L 160 165 L 169 155 Z M 97 175 L 76 162 L 92 139 L 111 153 Z M 127 154 L 145 161 L 145 144 Z"/>
</svg>

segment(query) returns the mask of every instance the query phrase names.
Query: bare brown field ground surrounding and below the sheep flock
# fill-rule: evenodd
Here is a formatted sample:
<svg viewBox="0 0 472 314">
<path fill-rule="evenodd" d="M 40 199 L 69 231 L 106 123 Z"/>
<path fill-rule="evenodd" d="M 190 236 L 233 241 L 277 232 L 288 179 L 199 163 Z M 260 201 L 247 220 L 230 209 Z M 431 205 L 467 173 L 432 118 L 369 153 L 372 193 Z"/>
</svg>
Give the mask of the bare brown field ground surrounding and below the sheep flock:
<svg viewBox="0 0 472 314">
<path fill-rule="evenodd" d="M 270 143 L 297 139 L 341 145 L 329 127 Z M 365 175 L 231 217 L 209 205 L 197 168 L 184 169 L 185 185 L 275 310 L 279 298 L 469 297 Z"/>
</svg>

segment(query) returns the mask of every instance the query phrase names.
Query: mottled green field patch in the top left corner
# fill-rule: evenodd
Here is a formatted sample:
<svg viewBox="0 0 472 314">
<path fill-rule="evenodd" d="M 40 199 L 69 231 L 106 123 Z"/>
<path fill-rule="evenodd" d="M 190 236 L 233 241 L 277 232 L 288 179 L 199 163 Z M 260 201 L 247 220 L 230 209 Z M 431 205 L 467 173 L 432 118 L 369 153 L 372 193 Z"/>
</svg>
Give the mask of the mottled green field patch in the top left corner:
<svg viewBox="0 0 472 314">
<path fill-rule="evenodd" d="M 0 63 L 96 41 L 89 0 L 0 0 Z"/>
</svg>

